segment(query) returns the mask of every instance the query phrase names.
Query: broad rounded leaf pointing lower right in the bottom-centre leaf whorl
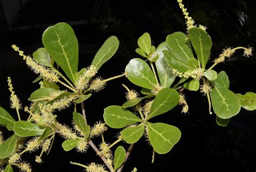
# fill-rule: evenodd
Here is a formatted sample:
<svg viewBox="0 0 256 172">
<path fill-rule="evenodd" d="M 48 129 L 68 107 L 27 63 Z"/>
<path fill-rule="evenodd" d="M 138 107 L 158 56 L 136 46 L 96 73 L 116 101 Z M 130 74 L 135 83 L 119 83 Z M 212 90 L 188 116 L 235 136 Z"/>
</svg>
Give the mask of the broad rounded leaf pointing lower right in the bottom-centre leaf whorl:
<svg viewBox="0 0 256 172">
<path fill-rule="evenodd" d="M 179 141 L 180 130 L 166 123 L 147 123 L 149 140 L 158 154 L 166 154 Z"/>
</svg>

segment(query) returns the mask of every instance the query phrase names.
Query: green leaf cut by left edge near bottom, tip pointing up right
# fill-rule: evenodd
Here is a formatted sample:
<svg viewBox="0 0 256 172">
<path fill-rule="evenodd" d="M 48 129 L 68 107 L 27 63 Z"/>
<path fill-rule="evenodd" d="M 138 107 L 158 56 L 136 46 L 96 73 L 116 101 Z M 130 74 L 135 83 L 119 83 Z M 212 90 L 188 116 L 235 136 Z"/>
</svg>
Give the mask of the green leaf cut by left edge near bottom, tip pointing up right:
<svg viewBox="0 0 256 172">
<path fill-rule="evenodd" d="M 18 136 L 13 134 L 0 145 L 0 159 L 5 159 L 14 153 Z"/>
</svg>

